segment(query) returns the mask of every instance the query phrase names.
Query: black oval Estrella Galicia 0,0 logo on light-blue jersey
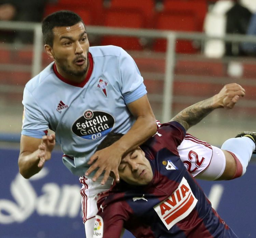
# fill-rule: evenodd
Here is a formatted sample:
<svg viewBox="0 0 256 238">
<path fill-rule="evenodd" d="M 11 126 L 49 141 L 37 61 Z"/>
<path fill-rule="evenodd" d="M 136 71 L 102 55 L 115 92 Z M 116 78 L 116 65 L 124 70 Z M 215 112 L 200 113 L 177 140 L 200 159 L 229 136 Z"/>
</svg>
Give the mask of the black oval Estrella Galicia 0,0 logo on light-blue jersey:
<svg viewBox="0 0 256 238">
<path fill-rule="evenodd" d="M 72 125 L 72 132 L 88 140 L 100 139 L 111 132 L 114 117 L 106 112 L 86 110 Z"/>
</svg>

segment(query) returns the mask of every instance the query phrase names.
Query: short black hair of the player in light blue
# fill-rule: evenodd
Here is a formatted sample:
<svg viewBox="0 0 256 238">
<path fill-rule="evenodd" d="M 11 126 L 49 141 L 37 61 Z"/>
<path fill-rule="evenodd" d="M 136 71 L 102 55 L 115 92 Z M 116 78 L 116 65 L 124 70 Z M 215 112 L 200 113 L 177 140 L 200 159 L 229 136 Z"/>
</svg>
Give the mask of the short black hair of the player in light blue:
<svg viewBox="0 0 256 238">
<path fill-rule="evenodd" d="M 62 10 L 54 12 L 42 21 L 42 33 L 44 44 L 47 44 L 53 47 L 53 28 L 55 27 L 71 27 L 77 24 L 78 22 L 83 22 L 82 18 L 74 12 Z"/>
</svg>

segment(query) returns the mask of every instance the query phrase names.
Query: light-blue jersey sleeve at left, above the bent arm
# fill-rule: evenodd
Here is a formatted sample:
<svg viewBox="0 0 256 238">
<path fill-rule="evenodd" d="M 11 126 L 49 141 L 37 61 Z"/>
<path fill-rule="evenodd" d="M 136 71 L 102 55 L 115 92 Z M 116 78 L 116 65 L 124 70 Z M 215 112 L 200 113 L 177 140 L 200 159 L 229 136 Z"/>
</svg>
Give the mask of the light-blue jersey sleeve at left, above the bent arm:
<svg viewBox="0 0 256 238">
<path fill-rule="evenodd" d="M 48 122 L 38 102 L 31 92 L 25 87 L 23 94 L 24 114 L 22 135 L 41 139 L 48 130 Z"/>
</svg>

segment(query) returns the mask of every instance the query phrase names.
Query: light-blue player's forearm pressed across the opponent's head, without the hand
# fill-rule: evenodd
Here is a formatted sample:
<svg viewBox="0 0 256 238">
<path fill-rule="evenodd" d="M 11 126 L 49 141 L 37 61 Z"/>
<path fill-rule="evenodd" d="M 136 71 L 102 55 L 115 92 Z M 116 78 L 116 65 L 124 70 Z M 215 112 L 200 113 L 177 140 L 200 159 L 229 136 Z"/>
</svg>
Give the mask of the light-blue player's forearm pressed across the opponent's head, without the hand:
<svg viewBox="0 0 256 238">
<path fill-rule="evenodd" d="M 117 147 L 121 154 L 124 155 L 152 137 L 156 130 L 157 125 L 154 115 L 148 117 L 139 116 L 131 129 L 112 146 Z"/>
</svg>

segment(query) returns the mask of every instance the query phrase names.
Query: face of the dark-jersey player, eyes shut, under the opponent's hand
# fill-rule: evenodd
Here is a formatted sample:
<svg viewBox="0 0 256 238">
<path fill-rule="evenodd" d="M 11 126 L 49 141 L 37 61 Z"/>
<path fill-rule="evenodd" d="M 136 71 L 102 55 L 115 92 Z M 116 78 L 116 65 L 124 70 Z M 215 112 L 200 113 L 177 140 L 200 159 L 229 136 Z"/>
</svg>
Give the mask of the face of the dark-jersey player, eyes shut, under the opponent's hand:
<svg viewBox="0 0 256 238">
<path fill-rule="evenodd" d="M 118 173 L 120 179 L 128 184 L 146 185 L 153 179 L 150 163 L 140 148 L 122 158 Z"/>
</svg>

